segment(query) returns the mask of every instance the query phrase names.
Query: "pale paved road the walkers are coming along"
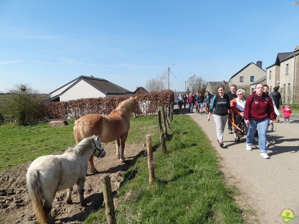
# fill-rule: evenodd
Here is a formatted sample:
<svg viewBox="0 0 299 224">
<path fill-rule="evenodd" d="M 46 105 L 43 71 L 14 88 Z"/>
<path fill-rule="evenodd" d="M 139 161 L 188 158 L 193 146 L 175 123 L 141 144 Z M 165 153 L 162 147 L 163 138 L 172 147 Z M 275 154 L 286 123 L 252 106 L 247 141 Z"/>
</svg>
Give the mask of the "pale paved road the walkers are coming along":
<svg viewBox="0 0 299 224">
<path fill-rule="evenodd" d="M 187 112 L 188 109 L 181 110 L 181 113 Z M 294 217 L 298 215 L 289 224 L 299 223 L 298 120 L 290 124 L 274 123 L 274 131 L 268 132 L 271 159 L 263 159 L 257 142 L 252 151 L 247 151 L 246 139 L 235 142 L 234 135 L 228 134 L 227 126 L 223 136 L 224 147 L 220 148 L 213 116 L 208 122 L 208 114 L 187 114 L 202 127 L 217 149 L 229 184 L 237 186 L 243 193 L 236 199 L 251 223 L 284 223 L 278 216 L 285 209 L 291 210 Z"/>
</svg>

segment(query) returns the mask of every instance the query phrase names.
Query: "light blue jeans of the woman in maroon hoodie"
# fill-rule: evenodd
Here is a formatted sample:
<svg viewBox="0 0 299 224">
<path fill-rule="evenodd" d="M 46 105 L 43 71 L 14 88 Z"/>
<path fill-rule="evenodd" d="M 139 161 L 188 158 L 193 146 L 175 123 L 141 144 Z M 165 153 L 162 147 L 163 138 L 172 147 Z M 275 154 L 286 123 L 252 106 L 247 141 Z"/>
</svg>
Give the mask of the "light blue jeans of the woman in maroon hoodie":
<svg viewBox="0 0 299 224">
<path fill-rule="evenodd" d="M 249 128 L 247 133 L 246 144 L 252 145 L 254 140 L 255 131 L 258 131 L 259 134 L 259 146 L 260 146 L 260 153 L 267 152 L 266 142 L 267 142 L 267 131 L 269 127 L 269 117 L 261 121 L 256 121 L 249 119 Z"/>
</svg>

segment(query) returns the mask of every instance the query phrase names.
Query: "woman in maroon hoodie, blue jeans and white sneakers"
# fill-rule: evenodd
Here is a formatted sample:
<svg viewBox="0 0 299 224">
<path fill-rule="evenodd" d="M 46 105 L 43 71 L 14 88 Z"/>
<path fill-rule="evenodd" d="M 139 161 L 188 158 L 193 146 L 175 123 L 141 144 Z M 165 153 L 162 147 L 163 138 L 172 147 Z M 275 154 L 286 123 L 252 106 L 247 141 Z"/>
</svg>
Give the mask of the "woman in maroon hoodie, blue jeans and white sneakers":
<svg viewBox="0 0 299 224">
<path fill-rule="evenodd" d="M 273 102 L 264 91 L 263 83 L 255 85 L 255 92 L 248 96 L 244 108 L 244 118 L 246 125 L 249 124 L 246 150 L 252 150 L 251 145 L 254 140 L 254 133 L 257 129 L 259 134 L 260 156 L 265 159 L 270 159 L 267 155 L 267 130 L 269 124 L 274 120 Z M 270 122 L 269 122 L 270 119 Z"/>
</svg>

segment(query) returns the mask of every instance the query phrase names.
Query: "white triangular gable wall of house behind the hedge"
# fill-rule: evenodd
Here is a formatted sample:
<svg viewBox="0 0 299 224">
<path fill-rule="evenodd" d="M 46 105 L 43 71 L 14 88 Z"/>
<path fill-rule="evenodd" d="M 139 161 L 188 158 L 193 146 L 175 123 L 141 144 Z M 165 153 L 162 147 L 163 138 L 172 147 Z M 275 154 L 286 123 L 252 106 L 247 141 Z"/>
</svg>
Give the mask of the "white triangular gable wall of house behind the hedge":
<svg viewBox="0 0 299 224">
<path fill-rule="evenodd" d="M 97 97 L 105 97 L 105 94 L 100 92 L 84 80 L 81 80 L 76 85 L 71 87 L 68 91 L 60 95 L 60 101 Z"/>
</svg>

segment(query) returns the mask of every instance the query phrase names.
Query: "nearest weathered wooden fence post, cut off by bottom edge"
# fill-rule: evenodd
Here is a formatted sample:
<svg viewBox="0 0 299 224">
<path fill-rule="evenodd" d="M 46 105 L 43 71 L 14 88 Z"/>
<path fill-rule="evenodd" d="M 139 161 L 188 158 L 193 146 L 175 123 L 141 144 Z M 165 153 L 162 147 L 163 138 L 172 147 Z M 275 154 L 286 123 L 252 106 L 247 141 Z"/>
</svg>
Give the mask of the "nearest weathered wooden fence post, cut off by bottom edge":
<svg viewBox="0 0 299 224">
<path fill-rule="evenodd" d="M 103 174 L 101 176 L 103 196 L 105 203 L 105 211 L 108 224 L 116 224 L 114 204 L 111 191 L 111 183 L 109 174 Z"/>
</svg>

